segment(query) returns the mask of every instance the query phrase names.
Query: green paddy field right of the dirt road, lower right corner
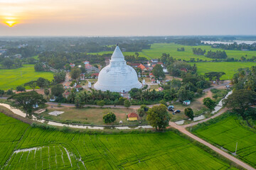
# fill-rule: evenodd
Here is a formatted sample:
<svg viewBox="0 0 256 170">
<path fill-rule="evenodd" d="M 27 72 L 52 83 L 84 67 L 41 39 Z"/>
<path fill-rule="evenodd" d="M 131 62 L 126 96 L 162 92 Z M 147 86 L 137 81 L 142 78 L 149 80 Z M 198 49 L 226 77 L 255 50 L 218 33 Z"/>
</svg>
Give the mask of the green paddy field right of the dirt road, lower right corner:
<svg viewBox="0 0 256 170">
<path fill-rule="evenodd" d="M 240 120 L 235 115 L 230 115 L 218 123 L 198 128 L 194 133 L 230 152 L 235 152 L 238 142 L 238 158 L 256 168 L 255 130 L 252 131 L 240 125 Z"/>
</svg>

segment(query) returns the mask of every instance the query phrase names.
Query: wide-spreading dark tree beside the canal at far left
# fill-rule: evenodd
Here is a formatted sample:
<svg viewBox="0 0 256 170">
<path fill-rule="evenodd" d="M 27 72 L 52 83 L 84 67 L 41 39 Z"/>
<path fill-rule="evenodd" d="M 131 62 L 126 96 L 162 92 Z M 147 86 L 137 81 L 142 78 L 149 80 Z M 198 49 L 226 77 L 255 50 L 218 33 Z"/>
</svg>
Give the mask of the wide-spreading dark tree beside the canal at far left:
<svg viewBox="0 0 256 170">
<path fill-rule="evenodd" d="M 46 103 L 43 95 L 38 94 L 36 91 L 28 91 L 20 94 L 14 94 L 8 100 L 14 100 L 14 106 L 22 107 L 26 111 L 26 115 L 31 115 L 33 107 Z"/>
</svg>

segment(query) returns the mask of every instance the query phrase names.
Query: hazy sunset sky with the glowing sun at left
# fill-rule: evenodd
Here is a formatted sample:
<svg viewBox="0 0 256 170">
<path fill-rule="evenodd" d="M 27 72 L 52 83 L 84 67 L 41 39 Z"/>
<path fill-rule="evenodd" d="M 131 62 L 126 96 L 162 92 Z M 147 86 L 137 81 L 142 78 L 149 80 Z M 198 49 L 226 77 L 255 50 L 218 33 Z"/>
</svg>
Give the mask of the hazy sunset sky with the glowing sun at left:
<svg viewBox="0 0 256 170">
<path fill-rule="evenodd" d="M 0 0 L 0 36 L 256 35 L 255 7 L 256 0 Z"/>
</svg>

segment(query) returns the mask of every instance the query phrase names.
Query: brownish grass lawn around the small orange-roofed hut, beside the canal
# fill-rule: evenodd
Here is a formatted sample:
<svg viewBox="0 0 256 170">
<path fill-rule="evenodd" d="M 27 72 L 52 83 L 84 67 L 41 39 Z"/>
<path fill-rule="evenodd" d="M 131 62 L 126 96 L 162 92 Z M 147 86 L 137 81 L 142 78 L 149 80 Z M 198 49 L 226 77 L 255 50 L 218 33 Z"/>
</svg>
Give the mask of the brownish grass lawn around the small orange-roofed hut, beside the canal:
<svg viewBox="0 0 256 170">
<path fill-rule="evenodd" d="M 51 111 L 64 111 L 65 113 L 55 116 L 48 115 Z M 127 114 L 137 113 L 136 110 L 132 108 L 50 108 L 48 112 L 42 113 L 44 118 L 51 120 L 57 120 L 64 123 L 76 122 L 92 125 L 106 125 L 103 122 L 103 116 L 107 113 L 114 113 L 117 116 L 115 125 L 119 125 L 119 121 L 122 120 L 123 125 L 137 125 L 139 121 L 127 121 Z M 142 118 L 142 123 L 146 123 L 146 115 Z M 140 119 L 139 119 L 140 120 Z"/>
</svg>

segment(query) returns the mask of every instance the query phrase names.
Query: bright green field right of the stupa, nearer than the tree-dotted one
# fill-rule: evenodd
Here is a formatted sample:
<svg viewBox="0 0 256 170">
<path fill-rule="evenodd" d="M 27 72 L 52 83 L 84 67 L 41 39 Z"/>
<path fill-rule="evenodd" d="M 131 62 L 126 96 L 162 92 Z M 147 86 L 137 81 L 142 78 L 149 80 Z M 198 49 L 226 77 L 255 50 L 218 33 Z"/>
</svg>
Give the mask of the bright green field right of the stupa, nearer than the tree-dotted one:
<svg viewBox="0 0 256 170">
<path fill-rule="evenodd" d="M 256 66 L 256 62 L 196 62 L 196 66 L 198 67 L 198 74 L 225 72 L 225 75 L 220 79 L 232 79 L 239 68 Z"/>
</svg>

